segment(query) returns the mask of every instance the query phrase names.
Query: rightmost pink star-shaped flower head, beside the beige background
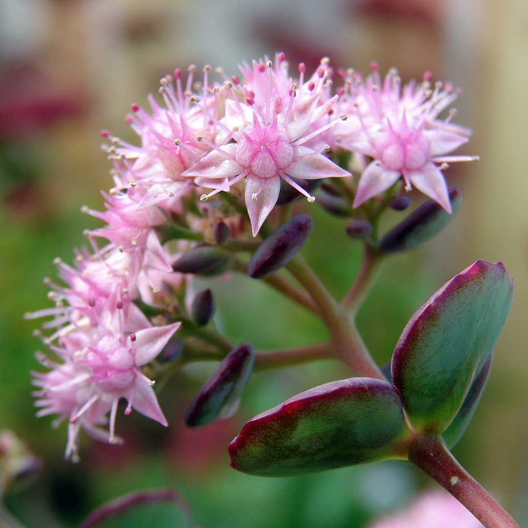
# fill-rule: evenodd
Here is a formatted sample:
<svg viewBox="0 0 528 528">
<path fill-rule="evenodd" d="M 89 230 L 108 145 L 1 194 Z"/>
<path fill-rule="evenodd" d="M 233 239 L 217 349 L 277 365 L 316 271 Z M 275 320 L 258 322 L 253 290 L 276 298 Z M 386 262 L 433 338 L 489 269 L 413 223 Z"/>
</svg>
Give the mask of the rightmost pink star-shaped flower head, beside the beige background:
<svg viewBox="0 0 528 528">
<path fill-rule="evenodd" d="M 426 74 L 429 79 L 429 74 Z M 412 185 L 451 212 L 447 185 L 442 169 L 450 162 L 472 161 L 475 156 L 447 156 L 467 142 L 470 130 L 452 125 L 451 110 L 444 120 L 437 119 L 457 97 L 449 84 L 429 80 L 407 84 L 400 90 L 400 78 L 391 70 L 382 83 L 378 67 L 366 80 L 351 73 L 342 89 L 340 110 L 346 109 L 349 119 L 337 134 L 339 144 L 373 161 L 361 175 L 353 206 L 387 190 L 403 177 L 406 190 Z"/>
</svg>

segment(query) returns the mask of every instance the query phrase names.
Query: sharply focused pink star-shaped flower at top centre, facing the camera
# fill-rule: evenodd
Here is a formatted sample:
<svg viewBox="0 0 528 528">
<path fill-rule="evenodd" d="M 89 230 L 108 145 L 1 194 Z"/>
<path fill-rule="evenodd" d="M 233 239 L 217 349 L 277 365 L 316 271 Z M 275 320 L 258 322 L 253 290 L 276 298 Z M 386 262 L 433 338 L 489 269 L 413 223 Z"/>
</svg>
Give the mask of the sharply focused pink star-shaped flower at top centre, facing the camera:
<svg viewBox="0 0 528 528">
<path fill-rule="evenodd" d="M 305 180 L 350 176 L 322 154 L 327 148 L 317 152 L 302 146 L 322 131 L 306 134 L 310 124 L 331 109 L 336 100 L 319 103 L 328 76 L 327 60 L 300 87 L 287 77 L 284 60 L 284 54 L 278 54 L 275 69 L 271 61 L 253 62 L 252 69 L 245 65 L 241 70 L 247 83 L 240 86 L 238 78 L 233 78 L 238 93 L 231 83 L 226 84 L 233 92 L 232 99 L 225 101 L 225 116 L 220 120 L 222 144 L 210 143 L 211 152 L 182 173 L 194 177 L 196 185 L 214 189 L 202 195 L 201 200 L 229 191 L 246 178 L 246 206 L 253 237 L 277 202 L 281 178 L 313 202 L 314 197 L 291 176 Z M 302 79 L 304 65 L 300 70 Z M 324 129 L 338 121 L 340 118 Z"/>
</svg>

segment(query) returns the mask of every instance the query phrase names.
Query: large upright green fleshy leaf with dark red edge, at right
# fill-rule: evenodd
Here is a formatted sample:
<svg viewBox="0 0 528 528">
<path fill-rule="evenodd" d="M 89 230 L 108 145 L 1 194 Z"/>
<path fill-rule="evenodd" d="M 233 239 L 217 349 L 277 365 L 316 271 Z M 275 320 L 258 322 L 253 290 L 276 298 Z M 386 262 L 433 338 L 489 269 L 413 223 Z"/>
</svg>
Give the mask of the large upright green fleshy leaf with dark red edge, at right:
<svg viewBox="0 0 528 528">
<path fill-rule="evenodd" d="M 392 356 L 392 380 L 417 432 L 455 418 L 497 341 L 513 297 L 502 262 L 478 260 L 412 316 Z"/>
</svg>

